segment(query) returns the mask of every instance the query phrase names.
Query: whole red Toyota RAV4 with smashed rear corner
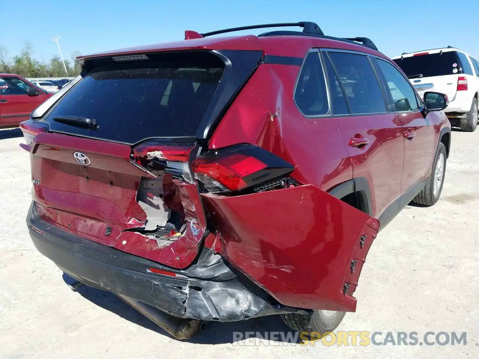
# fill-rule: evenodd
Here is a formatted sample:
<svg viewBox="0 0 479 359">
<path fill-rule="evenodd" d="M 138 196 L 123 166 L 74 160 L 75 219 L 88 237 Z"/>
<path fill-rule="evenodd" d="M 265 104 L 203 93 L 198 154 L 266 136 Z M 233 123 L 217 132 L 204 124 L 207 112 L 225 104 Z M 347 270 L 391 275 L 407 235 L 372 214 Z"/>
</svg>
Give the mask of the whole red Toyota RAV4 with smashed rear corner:
<svg viewBox="0 0 479 359">
<path fill-rule="evenodd" d="M 447 98 L 367 38 L 266 24 L 79 60 L 22 123 L 30 236 L 177 338 L 271 314 L 334 329 L 378 231 L 441 194 Z"/>
</svg>

